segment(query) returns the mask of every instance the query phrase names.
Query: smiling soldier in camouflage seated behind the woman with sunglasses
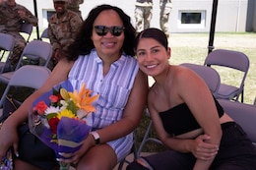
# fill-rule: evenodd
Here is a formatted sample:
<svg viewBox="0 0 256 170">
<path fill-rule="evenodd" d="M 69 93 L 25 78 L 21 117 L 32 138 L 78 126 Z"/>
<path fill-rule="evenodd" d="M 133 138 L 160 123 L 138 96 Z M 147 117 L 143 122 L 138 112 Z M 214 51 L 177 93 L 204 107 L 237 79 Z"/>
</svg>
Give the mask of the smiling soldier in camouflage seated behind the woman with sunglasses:
<svg viewBox="0 0 256 170">
<path fill-rule="evenodd" d="M 75 12 L 67 10 L 68 0 L 53 0 L 56 14 L 50 17 L 48 36 L 53 48 L 51 69 L 65 55 L 68 46 L 74 42 L 81 27 L 82 18 Z"/>
</svg>

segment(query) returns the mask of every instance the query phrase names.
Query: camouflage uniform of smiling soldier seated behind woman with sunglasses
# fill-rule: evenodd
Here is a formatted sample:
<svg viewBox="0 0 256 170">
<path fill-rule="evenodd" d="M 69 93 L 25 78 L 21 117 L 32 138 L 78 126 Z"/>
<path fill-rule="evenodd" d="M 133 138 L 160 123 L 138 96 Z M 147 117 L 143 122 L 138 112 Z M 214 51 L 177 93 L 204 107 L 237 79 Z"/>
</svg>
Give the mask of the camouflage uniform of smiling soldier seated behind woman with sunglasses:
<svg viewBox="0 0 256 170">
<path fill-rule="evenodd" d="M 60 18 L 57 17 L 57 14 L 51 16 L 48 25 L 48 36 L 53 51 L 55 52 L 57 49 L 61 49 L 61 51 L 67 50 L 68 46 L 74 42 L 82 23 L 81 17 L 70 10 L 66 10 Z M 53 63 L 52 67 L 55 64 L 56 62 Z"/>
</svg>

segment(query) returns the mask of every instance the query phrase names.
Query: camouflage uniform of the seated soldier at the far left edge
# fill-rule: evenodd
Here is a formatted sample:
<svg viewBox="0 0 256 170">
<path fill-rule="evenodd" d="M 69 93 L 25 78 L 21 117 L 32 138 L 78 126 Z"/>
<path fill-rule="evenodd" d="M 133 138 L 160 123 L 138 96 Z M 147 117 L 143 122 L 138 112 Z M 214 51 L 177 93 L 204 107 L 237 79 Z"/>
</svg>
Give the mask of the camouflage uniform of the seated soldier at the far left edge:
<svg viewBox="0 0 256 170">
<path fill-rule="evenodd" d="M 21 19 L 18 11 L 24 11 L 26 17 Z M 0 4 L 0 32 L 8 33 L 15 37 L 14 53 L 10 57 L 10 63 L 13 68 L 16 67 L 23 49 L 26 46 L 26 40 L 20 34 L 23 23 L 31 23 L 33 26 L 36 26 L 37 21 L 37 18 L 20 4 L 16 4 L 15 6 L 9 6 L 6 2 Z"/>
</svg>

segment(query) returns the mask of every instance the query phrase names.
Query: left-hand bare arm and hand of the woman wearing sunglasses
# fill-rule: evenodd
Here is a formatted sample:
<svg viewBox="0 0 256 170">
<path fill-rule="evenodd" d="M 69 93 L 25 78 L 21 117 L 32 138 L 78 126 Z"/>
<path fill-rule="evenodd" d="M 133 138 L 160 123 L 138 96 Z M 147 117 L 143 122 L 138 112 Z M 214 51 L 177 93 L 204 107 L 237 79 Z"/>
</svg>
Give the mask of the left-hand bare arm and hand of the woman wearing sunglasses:
<svg viewBox="0 0 256 170">
<path fill-rule="evenodd" d="M 67 80 L 68 73 L 72 67 L 72 62 L 67 62 L 66 59 L 59 62 L 54 68 L 52 74 L 38 90 L 34 91 L 23 104 L 17 109 L 3 124 L 0 130 L 0 160 L 5 155 L 7 149 L 13 145 L 14 150 L 18 153 L 18 135 L 17 127 L 28 119 L 29 110 L 32 102 L 42 93 L 50 90 L 54 85 Z M 39 78 L 38 78 L 39 79 Z M 36 81 L 36 80 L 34 80 Z"/>
</svg>

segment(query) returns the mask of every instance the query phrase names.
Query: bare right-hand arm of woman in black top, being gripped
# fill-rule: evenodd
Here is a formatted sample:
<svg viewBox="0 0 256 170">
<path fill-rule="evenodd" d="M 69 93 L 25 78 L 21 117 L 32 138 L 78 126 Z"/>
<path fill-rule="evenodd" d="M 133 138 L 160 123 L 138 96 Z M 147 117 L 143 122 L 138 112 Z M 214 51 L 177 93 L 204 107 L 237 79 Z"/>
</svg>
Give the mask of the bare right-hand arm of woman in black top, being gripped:
<svg viewBox="0 0 256 170">
<path fill-rule="evenodd" d="M 180 97 L 187 103 L 193 116 L 203 129 L 204 134 L 211 137 L 203 142 L 219 146 L 222 139 L 222 129 L 217 107 L 210 89 L 201 78 L 188 69 L 182 70 L 177 82 L 179 84 Z M 218 147 L 215 155 L 217 151 Z M 192 151 L 192 153 L 194 152 Z M 215 156 L 210 160 L 197 158 L 194 169 L 203 170 L 209 169 Z"/>
</svg>

